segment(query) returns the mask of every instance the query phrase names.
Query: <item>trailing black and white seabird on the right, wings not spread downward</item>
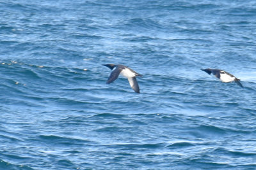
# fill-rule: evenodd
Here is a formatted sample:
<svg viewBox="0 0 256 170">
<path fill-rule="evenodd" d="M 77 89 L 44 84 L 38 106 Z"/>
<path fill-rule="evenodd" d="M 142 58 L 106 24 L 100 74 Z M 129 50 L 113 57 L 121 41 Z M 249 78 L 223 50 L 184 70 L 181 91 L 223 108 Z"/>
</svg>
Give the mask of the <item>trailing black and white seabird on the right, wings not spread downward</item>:
<svg viewBox="0 0 256 170">
<path fill-rule="evenodd" d="M 216 78 L 220 79 L 220 81 L 224 83 L 235 81 L 237 85 L 240 87 L 243 87 L 243 85 L 240 83 L 240 79 L 236 78 L 230 73 L 227 73 L 227 71 L 223 71 L 221 69 L 201 69 L 202 71 L 205 71 L 208 74 L 213 74 L 216 76 Z"/>
</svg>

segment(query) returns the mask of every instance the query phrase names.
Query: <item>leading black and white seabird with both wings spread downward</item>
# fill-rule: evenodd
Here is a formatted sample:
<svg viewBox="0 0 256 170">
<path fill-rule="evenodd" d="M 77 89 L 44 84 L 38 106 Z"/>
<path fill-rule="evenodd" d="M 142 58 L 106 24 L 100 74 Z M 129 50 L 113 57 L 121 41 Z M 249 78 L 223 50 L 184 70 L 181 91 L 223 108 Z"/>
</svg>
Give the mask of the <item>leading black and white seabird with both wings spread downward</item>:
<svg viewBox="0 0 256 170">
<path fill-rule="evenodd" d="M 103 64 L 103 66 L 109 67 L 109 69 L 112 70 L 107 84 L 112 83 L 113 81 L 116 80 L 116 78 L 118 78 L 119 74 L 121 74 L 122 76 L 125 76 L 126 78 L 128 78 L 128 81 L 132 87 L 132 89 L 137 92 L 140 93 L 140 87 L 138 85 L 138 82 L 136 80 L 136 76 L 142 76 L 139 73 L 136 73 L 135 71 L 133 71 L 132 69 L 130 69 L 129 67 L 126 67 L 124 65 L 121 64 Z"/>
</svg>

